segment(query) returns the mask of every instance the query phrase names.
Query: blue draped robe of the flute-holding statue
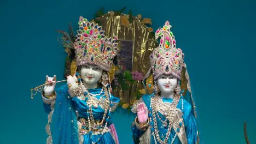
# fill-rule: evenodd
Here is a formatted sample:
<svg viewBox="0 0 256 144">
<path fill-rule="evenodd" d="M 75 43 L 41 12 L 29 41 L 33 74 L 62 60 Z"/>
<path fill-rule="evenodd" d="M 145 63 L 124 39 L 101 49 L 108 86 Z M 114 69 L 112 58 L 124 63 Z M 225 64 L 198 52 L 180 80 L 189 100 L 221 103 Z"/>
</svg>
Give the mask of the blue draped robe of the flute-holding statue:
<svg viewBox="0 0 256 144">
<path fill-rule="evenodd" d="M 88 89 L 88 91 L 91 94 L 99 94 L 101 92 L 101 88 L 95 88 L 95 89 Z M 59 88 L 55 89 L 56 92 L 56 100 L 55 100 L 55 105 L 53 109 L 53 114 L 52 116 L 49 115 L 51 118 L 49 119 L 49 125 L 50 125 L 50 135 L 51 139 L 53 140 L 54 144 L 65 144 L 65 143 L 70 143 L 70 144 L 78 144 L 79 141 L 80 143 L 91 143 L 90 135 L 89 134 L 79 134 L 78 132 L 78 118 L 85 118 L 87 119 L 88 117 L 86 116 L 86 112 L 88 107 L 86 106 L 86 101 L 81 100 L 78 97 L 71 98 L 68 94 L 68 87 L 67 85 L 63 85 Z M 101 95 L 96 96 L 97 99 L 99 99 L 102 95 L 104 94 L 104 91 L 102 92 Z M 102 97 L 106 98 L 106 97 Z M 115 107 L 119 103 L 119 99 L 113 97 L 113 103 L 114 106 L 112 109 L 114 110 Z M 52 104 L 53 105 L 53 104 Z M 45 111 L 50 113 L 51 112 L 51 105 L 47 105 L 44 103 L 44 108 Z M 79 116 L 77 117 L 77 112 L 79 113 Z M 94 115 L 94 119 L 96 121 L 102 120 L 104 110 L 102 107 L 99 105 L 96 109 L 92 107 L 92 112 Z M 48 118 L 49 118 L 48 116 Z M 108 114 L 107 114 L 108 116 Z M 107 118 L 106 116 L 106 118 Z M 108 126 L 112 124 L 112 118 L 109 116 L 109 121 L 108 121 Z M 83 136 L 84 141 L 81 142 L 81 136 Z M 97 141 L 98 137 L 100 135 L 92 135 L 92 140 L 94 142 Z M 49 139 L 49 138 L 48 138 Z M 101 137 L 101 139 L 97 142 L 97 144 L 112 144 L 115 143 L 112 135 L 110 132 L 104 133 Z"/>
</svg>

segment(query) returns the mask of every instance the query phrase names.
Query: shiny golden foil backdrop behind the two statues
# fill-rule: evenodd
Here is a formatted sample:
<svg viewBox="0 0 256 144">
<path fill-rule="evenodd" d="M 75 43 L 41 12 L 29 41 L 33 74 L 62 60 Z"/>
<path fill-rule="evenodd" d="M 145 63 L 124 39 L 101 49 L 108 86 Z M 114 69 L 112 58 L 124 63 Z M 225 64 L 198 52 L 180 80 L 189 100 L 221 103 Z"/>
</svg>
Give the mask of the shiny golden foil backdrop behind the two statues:
<svg viewBox="0 0 256 144">
<path fill-rule="evenodd" d="M 148 27 L 145 26 L 138 17 L 133 16 L 133 22 L 128 26 L 122 25 L 121 16 L 129 17 L 129 15 L 121 14 L 118 16 L 110 16 L 109 13 L 97 17 L 100 21 L 102 29 L 105 31 L 106 37 L 118 37 L 119 40 L 132 40 L 132 71 L 138 71 L 145 75 L 150 68 L 149 55 L 158 43 L 154 35 L 150 34 Z M 121 49 L 120 45 L 118 48 Z M 131 84 L 132 85 L 132 84 Z M 122 91 L 121 88 L 114 89 L 115 97 L 119 97 L 123 103 L 131 103 L 135 95 L 131 95 L 138 89 L 142 89 L 142 82 L 139 81 L 132 85 L 132 89 Z M 133 97 L 131 97 L 133 96 Z"/>
</svg>

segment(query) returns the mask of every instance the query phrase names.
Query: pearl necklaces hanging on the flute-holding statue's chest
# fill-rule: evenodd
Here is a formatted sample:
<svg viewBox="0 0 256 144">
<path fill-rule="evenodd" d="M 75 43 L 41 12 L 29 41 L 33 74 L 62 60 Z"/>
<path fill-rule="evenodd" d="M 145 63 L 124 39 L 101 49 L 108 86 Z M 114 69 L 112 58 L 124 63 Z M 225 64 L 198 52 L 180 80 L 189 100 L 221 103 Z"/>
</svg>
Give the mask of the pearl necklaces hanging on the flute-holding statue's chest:
<svg viewBox="0 0 256 144">
<path fill-rule="evenodd" d="M 100 127 L 101 128 L 103 128 L 103 122 L 104 122 L 104 120 L 106 119 L 106 123 L 105 123 L 105 125 L 104 125 L 104 128 L 103 128 L 103 130 L 102 131 L 100 131 L 101 132 L 101 135 L 98 137 L 98 139 L 97 139 L 97 141 L 93 141 L 92 140 L 92 129 L 94 129 L 94 130 L 97 130 L 98 128 L 97 128 L 97 124 L 96 124 L 96 122 L 95 122 L 95 119 L 94 119 L 94 115 L 93 115 L 93 111 L 92 111 L 92 107 L 94 106 L 93 104 L 92 104 L 92 100 L 94 100 L 95 99 L 95 96 L 98 96 L 98 95 L 101 95 L 102 94 L 102 92 L 105 92 L 104 93 L 104 95 L 102 95 L 101 96 L 101 98 L 103 97 L 103 96 L 106 96 L 106 99 L 105 99 L 105 101 L 104 101 L 104 115 L 103 115 L 103 117 L 102 117 L 102 121 L 101 121 L 101 123 L 100 123 Z M 86 106 L 88 106 L 88 110 L 87 110 L 87 113 L 86 113 L 86 116 L 88 116 L 88 123 L 89 123 L 89 134 L 90 134 L 90 139 L 91 139 L 91 141 L 92 141 L 92 144 L 95 144 L 95 143 L 97 143 L 100 139 L 101 139 L 101 137 L 102 137 L 102 135 L 104 134 L 104 131 L 107 131 L 107 124 L 108 124 L 108 121 L 109 121 L 109 116 L 111 115 L 111 113 L 110 113 L 110 111 L 111 111 L 111 107 L 113 107 L 113 104 L 112 104 L 112 100 L 113 100 L 113 98 L 112 98 L 112 95 L 110 94 L 110 89 L 109 89 L 109 87 L 108 88 L 106 88 L 106 87 L 104 87 L 104 88 L 102 88 L 101 89 L 101 93 L 100 94 L 91 94 L 91 93 L 89 93 L 89 91 L 87 91 L 86 90 L 86 93 L 87 93 L 87 95 L 88 95 L 88 97 L 86 97 L 85 98 L 85 100 L 86 101 L 88 101 L 88 103 L 86 103 Z M 97 98 L 96 98 L 97 99 Z M 108 116 L 107 116 L 107 112 L 108 112 Z M 106 116 L 107 116 L 107 118 L 106 118 Z"/>
</svg>

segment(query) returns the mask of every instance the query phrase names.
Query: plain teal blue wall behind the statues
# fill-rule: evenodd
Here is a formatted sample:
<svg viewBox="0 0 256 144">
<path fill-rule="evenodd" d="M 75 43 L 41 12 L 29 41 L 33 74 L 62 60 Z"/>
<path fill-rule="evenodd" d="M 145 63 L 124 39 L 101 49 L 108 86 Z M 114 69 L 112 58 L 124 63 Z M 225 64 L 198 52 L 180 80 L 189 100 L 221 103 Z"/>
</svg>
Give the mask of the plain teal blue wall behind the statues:
<svg viewBox="0 0 256 144">
<path fill-rule="evenodd" d="M 62 80 L 66 53 L 57 46 L 56 29 L 77 25 L 79 16 L 91 19 L 101 6 L 127 7 L 134 15 L 150 17 L 153 28 L 171 22 L 177 46 L 185 53 L 193 82 L 205 143 L 256 143 L 255 33 L 253 0 L 195 1 L 0 1 L 1 100 L 0 143 L 45 143 L 40 95 L 30 88 L 45 75 Z M 120 143 L 132 143 L 133 116 L 118 110 L 114 123 Z"/>
</svg>

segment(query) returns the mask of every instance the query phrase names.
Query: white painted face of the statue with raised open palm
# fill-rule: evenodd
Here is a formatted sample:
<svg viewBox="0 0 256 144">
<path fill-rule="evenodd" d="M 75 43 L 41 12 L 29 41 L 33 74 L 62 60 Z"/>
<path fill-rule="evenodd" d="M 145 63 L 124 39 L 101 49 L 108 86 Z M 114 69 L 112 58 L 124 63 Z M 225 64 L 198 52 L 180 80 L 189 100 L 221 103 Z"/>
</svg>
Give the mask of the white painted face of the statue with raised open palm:
<svg viewBox="0 0 256 144">
<path fill-rule="evenodd" d="M 158 77 L 158 87 L 162 93 L 173 93 L 176 88 L 178 79 L 173 75 L 160 75 Z"/>
</svg>

